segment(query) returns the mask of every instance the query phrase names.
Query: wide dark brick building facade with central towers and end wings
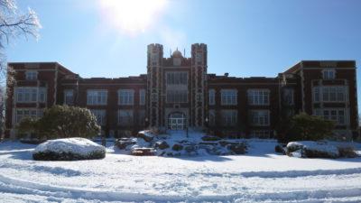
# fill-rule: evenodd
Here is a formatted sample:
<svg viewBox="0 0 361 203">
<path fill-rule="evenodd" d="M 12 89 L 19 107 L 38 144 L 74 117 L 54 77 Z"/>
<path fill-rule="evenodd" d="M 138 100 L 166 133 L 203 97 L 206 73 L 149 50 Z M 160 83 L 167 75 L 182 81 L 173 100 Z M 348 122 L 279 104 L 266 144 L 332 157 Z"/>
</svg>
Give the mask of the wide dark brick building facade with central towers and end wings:
<svg viewBox="0 0 361 203">
<path fill-rule="evenodd" d="M 273 137 L 284 116 L 306 112 L 337 124 L 335 134 L 357 134 L 356 62 L 302 60 L 274 78 L 208 74 L 207 45 L 190 58 L 161 44 L 147 47 L 147 72 L 128 78 L 81 78 L 57 62 L 9 63 L 6 135 L 24 116 L 52 105 L 83 106 L 103 134 L 124 136 L 148 127 L 205 129 L 228 136 Z"/>
</svg>

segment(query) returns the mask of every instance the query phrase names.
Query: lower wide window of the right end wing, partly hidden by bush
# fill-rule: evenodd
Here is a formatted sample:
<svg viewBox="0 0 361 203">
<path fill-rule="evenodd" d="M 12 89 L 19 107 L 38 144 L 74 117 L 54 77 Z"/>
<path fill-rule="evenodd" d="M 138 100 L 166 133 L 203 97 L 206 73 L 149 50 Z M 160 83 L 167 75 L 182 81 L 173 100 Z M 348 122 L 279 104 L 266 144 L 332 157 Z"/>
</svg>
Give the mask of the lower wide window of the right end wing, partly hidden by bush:
<svg viewBox="0 0 361 203">
<path fill-rule="evenodd" d="M 344 108 L 316 108 L 314 115 L 334 121 L 337 125 L 346 125 L 346 110 Z"/>
</svg>

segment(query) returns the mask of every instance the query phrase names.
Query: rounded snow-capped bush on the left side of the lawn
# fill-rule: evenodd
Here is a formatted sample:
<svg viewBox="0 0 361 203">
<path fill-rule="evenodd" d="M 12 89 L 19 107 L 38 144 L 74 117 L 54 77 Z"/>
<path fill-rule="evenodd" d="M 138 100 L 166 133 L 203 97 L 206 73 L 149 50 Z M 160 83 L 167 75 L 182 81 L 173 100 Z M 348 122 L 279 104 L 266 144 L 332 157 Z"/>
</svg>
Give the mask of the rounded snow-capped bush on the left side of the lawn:
<svg viewBox="0 0 361 203">
<path fill-rule="evenodd" d="M 32 152 L 37 161 L 94 160 L 106 157 L 106 148 L 88 139 L 74 137 L 49 140 Z"/>
</svg>

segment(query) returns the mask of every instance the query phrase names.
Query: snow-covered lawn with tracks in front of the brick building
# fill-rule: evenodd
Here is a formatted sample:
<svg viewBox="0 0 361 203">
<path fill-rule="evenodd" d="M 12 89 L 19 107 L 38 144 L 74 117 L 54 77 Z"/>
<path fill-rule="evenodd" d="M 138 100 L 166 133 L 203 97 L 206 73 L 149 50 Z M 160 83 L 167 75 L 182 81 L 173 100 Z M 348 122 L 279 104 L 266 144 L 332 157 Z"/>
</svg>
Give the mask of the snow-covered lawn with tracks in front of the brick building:
<svg viewBox="0 0 361 203">
<path fill-rule="evenodd" d="M 300 159 L 251 140 L 238 156 L 32 161 L 35 145 L 0 143 L 0 202 L 361 202 L 361 158 Z M 358 145 L 359 147 L 360 145 Z"/>
</svg>

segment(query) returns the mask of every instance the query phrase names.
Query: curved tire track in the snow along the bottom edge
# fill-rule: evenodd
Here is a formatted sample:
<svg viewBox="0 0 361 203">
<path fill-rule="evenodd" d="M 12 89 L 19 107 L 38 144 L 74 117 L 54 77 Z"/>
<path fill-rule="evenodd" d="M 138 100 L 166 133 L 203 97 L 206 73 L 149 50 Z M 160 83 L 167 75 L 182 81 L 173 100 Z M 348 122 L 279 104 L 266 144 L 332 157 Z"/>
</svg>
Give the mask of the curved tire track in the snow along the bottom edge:
<svg viewBox="0 0 361 203">
<path fill-rule="evenodd" d="M 231 202 L 324 202 L 327 200 L 338 201 L 344 199 L 347 201 L 361 199 L 361 188 L 348 189 L 317 189 L 317 190 L 297 190 L 257 193 L 255 190 L 246 190 L 245 193 L 234 195 L 158 195 L 146 194 L 141 192 L 121 192 L 121 191 L 100 191 L 90 189 L 71 189 L 46 184 L 40 184 L 24 180 L 15 180 L 0 175 L 0 195 L 23 194 L 38 195 L 48 198 L 66 198 L 66 199 L 93 199 L 99 201 L 154 201 L 154 202 L 179 202 L 179 201 L 231 201 Z M 348 201 L 349 202 L 349 201 Z"/>
</svg>

